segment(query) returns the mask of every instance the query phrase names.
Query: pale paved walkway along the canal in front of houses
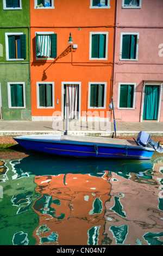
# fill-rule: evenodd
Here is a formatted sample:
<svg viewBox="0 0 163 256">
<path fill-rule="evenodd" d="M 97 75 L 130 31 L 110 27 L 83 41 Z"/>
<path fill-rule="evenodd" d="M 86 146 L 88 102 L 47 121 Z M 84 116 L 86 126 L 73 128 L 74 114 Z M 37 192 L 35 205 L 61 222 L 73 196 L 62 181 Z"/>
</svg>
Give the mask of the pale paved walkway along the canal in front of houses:
<svg viewBox="0 0 163 256">
<path fill-rule="evenodd" d="M 15 136 L 33 133 L 63 134 L 65 131 L 65 121 L 0 121 L 0 136 Z M 151 133 L 152 136 L 163 137 L 163 123 L 142 122 L 126 123 L 116 122 L 117 136 L 130 137 L 137 136 L 140 131 Z M 111 136 L 114 132 L 114 124 L 98 122 L 68 122 L 69 135 L 86 136 Z"/>
</svg>

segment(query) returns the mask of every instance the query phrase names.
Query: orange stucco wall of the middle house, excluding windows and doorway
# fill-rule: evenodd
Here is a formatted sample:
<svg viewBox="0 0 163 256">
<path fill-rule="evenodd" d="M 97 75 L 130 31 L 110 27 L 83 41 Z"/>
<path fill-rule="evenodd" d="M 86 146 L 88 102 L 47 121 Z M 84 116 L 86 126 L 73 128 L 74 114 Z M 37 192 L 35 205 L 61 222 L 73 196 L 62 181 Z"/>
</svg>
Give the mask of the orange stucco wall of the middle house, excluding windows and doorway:
<svg viewBox="0 0 163 256">
<path fill-rule="evenodd" d="M 87 110 L 109 111 L 115 0 L 110 0 L 107 9 L 90 9 L 90 0 L 54 0 L 54 7 L 34 9 L 34 0 L 30 0 L 32 116 L 52 116 L 55 111 L 61 111 L 62 82 L 81 83 L 81 115 Z M 57 58 L 36 60 L 35 32 L 57 33 Z M 78 48 L 67 52 L 70 32 Z M 109 33 L 106 60 L 89 60 L 90 32 Z M 37 108 L 36 82 L 43 81 L 54 82 L 54 108 Z M 105 109 L 87 109 L 89 82 L 107 83 Z"/>
</svg>

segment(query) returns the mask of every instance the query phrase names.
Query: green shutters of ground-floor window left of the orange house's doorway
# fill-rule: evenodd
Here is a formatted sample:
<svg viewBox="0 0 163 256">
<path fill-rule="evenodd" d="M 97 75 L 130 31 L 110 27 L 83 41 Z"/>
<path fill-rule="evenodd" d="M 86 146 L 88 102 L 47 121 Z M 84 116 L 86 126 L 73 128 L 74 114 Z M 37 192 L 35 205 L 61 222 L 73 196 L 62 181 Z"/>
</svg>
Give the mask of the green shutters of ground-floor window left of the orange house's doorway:
<svg viewBox="0 0 163 256">
<path fill-rule="evenodd" d="M 52 107 L 52 84 L 48 83 L 40 83 L 39 84 L 39 106 L 40 107 Z"/>
</svg>

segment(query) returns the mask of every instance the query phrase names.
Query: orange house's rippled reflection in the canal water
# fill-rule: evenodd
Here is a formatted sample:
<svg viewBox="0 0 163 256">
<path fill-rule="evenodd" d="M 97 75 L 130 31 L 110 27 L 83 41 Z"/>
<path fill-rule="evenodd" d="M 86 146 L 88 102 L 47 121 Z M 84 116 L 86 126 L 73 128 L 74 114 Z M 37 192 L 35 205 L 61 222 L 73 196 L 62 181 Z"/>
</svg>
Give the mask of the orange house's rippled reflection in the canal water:
<svg viewBox="0 0 163 256">
<path fill-rule="evenodd" d="M 59 174 L 36 176 L 33 205 L 40 226 L 34 230 L 36 245 L 102 245 L 105 202 L 110 199 L 110 175 Z"/>
</svg>

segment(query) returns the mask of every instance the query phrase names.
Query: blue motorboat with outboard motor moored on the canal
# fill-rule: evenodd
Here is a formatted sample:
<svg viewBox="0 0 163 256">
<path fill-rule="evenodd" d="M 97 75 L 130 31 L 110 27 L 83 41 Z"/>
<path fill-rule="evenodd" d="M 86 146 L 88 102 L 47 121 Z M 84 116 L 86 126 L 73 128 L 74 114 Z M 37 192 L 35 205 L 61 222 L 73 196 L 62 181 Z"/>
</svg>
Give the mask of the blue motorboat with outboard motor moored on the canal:
<svg viewBox="0 0 163 256">
<path fill-rule="evenodd" d="M 140 132 L 137 139 L 70 136 L 70 135 L 29 135 L 14 138 L 23 148 L 42 153 L 113 159 L 151 159 L 154 151 L 162 153 L 158 142 L 153 142 L 148 133 Z"/>
</svg>

